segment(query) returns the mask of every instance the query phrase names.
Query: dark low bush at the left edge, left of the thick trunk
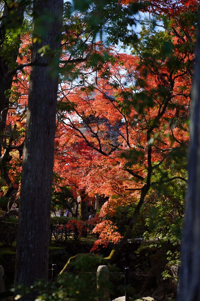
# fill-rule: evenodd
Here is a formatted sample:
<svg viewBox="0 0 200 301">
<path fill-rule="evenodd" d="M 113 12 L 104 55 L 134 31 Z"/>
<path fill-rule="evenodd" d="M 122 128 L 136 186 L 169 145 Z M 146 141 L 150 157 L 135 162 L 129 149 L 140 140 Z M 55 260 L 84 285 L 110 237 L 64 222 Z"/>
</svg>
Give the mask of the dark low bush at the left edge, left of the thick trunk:
<svg viewBox="0 0 200 301">
<path fill-rule="evenodd" d="M 18 219 L 9 217 L 4 222 L 0 222 L 0 243 L 4 247 L 11 247 L 17 238 Z"/>
</svg>

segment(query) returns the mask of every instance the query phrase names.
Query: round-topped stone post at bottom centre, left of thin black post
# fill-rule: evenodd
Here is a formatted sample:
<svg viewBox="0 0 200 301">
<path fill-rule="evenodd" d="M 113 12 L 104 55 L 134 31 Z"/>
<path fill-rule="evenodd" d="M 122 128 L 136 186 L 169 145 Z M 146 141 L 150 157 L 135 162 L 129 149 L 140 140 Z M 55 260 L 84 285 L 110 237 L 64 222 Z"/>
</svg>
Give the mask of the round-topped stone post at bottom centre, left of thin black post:
<svg viewBox="0 0 200 301">
<path fill-rule="evenodd" d="M 97 290 L 99 294 L 98 301 L 109 301 L 109 270 L 107 265 L 99 265 L 97 268 Z"/>
</svg>

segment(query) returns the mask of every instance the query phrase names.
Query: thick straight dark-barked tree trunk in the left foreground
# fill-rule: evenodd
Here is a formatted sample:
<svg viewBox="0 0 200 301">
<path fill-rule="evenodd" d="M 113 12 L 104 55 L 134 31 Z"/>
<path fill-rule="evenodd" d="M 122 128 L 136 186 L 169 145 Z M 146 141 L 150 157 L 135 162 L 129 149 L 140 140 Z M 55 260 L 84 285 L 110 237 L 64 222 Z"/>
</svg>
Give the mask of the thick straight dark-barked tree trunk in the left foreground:
<svg viewBox="0 0 200 301">
<path fill-rule="evenodd" d="M 48 276 L 59 65 L 55 51 L 60 55 L 63 0 L 34 0 L 33 5 L 31 61 L 36 65 L 30 73 L 15 275 L 15 284 L 27 286 Z M 47 49 L 43 55 L 38 52 L 42 47 Z"/>
</svg>

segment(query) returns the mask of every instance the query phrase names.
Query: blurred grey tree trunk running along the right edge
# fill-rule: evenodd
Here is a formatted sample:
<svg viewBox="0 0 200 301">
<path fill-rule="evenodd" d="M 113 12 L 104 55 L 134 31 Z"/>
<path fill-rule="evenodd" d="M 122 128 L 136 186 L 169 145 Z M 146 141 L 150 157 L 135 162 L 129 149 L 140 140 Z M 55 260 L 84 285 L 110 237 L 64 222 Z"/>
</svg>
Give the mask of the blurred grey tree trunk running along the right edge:
<svg viewBox="0 0 200 301">
<path fill-rule="evenodd" d="M 181 248 L 179 301 L 200 300 L 200 36 L 197 40 L 189 119 L 188 191 Z"/>
</svg>

